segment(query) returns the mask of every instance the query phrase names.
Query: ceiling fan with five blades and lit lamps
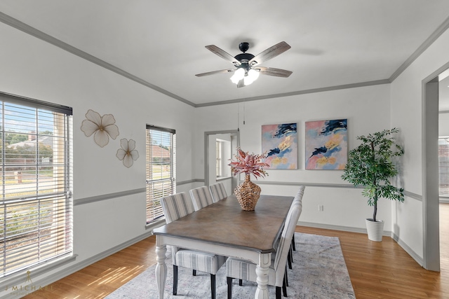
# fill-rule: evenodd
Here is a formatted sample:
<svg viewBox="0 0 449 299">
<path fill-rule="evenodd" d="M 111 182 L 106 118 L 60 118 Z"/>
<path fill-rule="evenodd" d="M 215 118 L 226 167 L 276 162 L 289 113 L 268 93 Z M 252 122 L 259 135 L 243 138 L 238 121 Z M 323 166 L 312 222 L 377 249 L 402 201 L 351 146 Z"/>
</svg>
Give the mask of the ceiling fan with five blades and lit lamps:
<svg viewBox="0 0 449 299">
<path fill-rule="evenodd" d="M 286 43 L 285 41 L 276 43 L 276 45 L 267 48 L 267 50 L 264 50 L 262 53 L 256 56 L 250 53 L 246 53 L 249 48 L 249 43 L 240 43 L 239 49 L 243 53 L 240 53 L 233 57 L 217 46 L 206 46 L 206 49 L 210 50 L 212 53 L 215 53 L 216 55 L 222 57 L 224 60 L 227 60 L 234 64 L 236 69 L 221 69 L 220 71 L 209 71 L 207 73 L 196 74 L 195 76 L 202 77 L 214 74 L 234 73 L 234 75 L 231 77 L 231 81 L 237 85 L 237 88 L 241 88 L 253 83 L 259 77 L 259 74 L 283 78 L 287 78 L 288 76 L 290 76 L 290 74 L 292 74 L 292 71 L 287 71 L 285 69 L 275 69 L 273 67 L 258 67 L 258 65 L 262 62 L 266 62 L 267 60 L 270 60 L 290 49 L 290 45 L 288 45 L 288 43 Z"/>
</svg>

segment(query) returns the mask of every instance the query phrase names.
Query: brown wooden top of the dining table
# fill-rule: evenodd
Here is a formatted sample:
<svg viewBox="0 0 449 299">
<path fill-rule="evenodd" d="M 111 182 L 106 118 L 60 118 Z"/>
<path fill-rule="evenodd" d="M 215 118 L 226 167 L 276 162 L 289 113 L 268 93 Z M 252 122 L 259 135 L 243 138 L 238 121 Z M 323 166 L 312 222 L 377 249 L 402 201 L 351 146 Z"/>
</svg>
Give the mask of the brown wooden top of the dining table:
<svg viewBox="0 0 449 299">
<path fill-rule="evenodd" d="M 154 235 L 194 239 L 260 253 L 274 251 L 293 196 L 260 195 L 255 211 L 243 211 L 235 195 L 154 229 Z"/>
</svg>

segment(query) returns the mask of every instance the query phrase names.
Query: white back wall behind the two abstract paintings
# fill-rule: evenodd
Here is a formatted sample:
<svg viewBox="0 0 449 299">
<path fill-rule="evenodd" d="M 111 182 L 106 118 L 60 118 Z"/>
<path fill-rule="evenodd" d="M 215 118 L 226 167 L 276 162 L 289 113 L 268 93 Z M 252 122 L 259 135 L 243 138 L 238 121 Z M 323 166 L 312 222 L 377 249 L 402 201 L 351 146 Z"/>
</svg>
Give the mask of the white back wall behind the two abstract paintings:
<svg viewBox="0 0 449 299">
<path fill-rule="evenodd" d="M 246 88 L 257 88 L 257 85 Z M 365 218 L 372 216 L 372 208 L 366 204 L 366 198 L 361 196 L 360 189 L 342 181 L 341 170 L 304 169 L 304 123 L 309 120 L 347 118 L 348 144 L 349 148 L 354 148 L 358 145 L 356 136 L 389 128 L 389 85 L 265 99 L 246 102 L 244 105 L 245 109 L 242 103 L 196 109 L 198 132 L 195 144 L 203 143 L 203 131 L 236 130 L 239 126 L 243 151 L 260 153 L 262 125 L 297 123 L 299 169 L 268 170 L 269 176 L 258 180 L 262 193 L 293 196 L 297 192 L 296 186 L 281 186 L 279 183 L 318 184 L 317 187 L 306 187 L 300 221 L 312 225 L 365 229 Z M 195 160 L 200 160 L 202 155 L 201 146 L 197 146 Z M 203 165 L 199 163 L 195 167 L 196 173 L 201 175 Z M 344 184 L 347 188 L 335 186 Z M 318 211 L 319 204 L 324 205 L 324 211 Z M 384 219 L 388 230 L 391 227 L 389 202 L 380 200 L 378 217 Z"/>
</svg>

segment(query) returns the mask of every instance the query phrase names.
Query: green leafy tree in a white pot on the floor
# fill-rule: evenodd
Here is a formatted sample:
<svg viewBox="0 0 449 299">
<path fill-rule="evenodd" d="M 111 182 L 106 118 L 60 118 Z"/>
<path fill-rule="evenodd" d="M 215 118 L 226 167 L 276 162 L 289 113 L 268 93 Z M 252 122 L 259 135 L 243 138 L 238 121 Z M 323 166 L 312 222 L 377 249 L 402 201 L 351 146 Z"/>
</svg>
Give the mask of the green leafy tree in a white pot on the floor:
<svg viewBox="0 0 449 299">
<path fill-rule="evenodd" d="M 362 195 L 368 197 L 368 205 L 374 207 L 373 218 L 366 219 L 368 239 L 382 241 L 384 222 L 377 220 L 377 200 L 404 201 L 403 188 L 391 185 L 390 179 L 398 171 L 392 159 L 403 155 L 403 147 L 396 143 L 398 129 L 383 130 L 368 136 L 358 136 L 361 144 L 349 151 L 342 179 L 363 186 Z"/>
</svg>

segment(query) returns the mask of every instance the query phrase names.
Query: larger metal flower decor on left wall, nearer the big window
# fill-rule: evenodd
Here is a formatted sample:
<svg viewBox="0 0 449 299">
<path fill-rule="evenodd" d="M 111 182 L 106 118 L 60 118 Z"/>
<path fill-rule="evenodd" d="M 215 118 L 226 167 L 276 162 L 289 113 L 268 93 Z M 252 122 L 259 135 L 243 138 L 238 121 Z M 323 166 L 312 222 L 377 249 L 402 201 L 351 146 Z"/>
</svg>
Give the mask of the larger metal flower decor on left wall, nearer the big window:
<svg viewBox="0 0 449 299">
<path fill-rule="evenodd" d="M 115 118 L 112 114 L 100 116 L 98 112 L 89 109 L 86 113 L 86 119 L 81 124 L 81 131 L 86 137 L 93 135 L 95 144 L 100 147 L 109 143 L 109 137 L 116 139 L 119 136 L 119 127 L 115 125 Z"/>
</svg>

